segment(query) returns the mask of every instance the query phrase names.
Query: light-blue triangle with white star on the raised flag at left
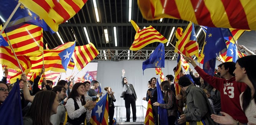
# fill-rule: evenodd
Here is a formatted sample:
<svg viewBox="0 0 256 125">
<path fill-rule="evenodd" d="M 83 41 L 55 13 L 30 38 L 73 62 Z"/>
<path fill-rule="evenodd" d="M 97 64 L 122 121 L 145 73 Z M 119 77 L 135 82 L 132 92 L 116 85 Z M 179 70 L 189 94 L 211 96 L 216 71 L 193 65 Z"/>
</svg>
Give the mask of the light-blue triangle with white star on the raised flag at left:
<svg viewBox="0 0 256 125">
<path fill-rule="evenodd" d="M 69 64 L 69 61 L 72 57 L 74 50 L 75 50 L 75 43 L 74 45 L 70 46 L 69 48 L 66 48 L 61 53 L 58 54 L 59 57 L 61 58 L 61 64 L 66 71 L 67 71 L 67 65 Z"/>
</svg>

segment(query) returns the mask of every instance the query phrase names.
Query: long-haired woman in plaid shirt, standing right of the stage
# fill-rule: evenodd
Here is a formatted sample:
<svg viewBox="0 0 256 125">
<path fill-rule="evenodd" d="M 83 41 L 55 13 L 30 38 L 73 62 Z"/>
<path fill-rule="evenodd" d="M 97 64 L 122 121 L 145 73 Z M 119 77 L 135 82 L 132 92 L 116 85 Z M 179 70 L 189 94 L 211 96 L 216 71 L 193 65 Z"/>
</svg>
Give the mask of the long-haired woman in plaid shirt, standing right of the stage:
<svg viewBox="0 0 256 125">
<path fill-rule="evenodd" d="M 161 83 L 161 89 L 164 91 L 164 104 L 158 102 L 153 103 L 153 106 L 160 106 L 162 109 L 167 109 L 169 125 L 175 125 L 174 122 L 177 116 L 177 104 L 174 92 L 171 90 L 171 84 L 168 81 Z"/>
</svg>

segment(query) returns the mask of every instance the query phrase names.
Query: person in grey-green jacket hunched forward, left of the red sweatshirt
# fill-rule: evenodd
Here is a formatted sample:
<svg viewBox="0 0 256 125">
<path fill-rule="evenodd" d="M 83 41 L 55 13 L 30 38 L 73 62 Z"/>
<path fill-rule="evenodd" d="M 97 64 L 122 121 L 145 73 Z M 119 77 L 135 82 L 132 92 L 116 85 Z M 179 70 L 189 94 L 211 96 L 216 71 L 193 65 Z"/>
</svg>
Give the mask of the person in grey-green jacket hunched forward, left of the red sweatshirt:
<svg viewBox="0 0 256 125">
<path fill-rule="evenodd" d="M 213 110 L 203 90 L 195 87 L 184 76 L 180 77 L 179 86 L 187 94 L 187 103 L 178 123 L 189 122 L 190 125 L 197 125 L 197 122 L 203 121 L 205 125 L 217 125 L 210 117 Z"/>
</svg>

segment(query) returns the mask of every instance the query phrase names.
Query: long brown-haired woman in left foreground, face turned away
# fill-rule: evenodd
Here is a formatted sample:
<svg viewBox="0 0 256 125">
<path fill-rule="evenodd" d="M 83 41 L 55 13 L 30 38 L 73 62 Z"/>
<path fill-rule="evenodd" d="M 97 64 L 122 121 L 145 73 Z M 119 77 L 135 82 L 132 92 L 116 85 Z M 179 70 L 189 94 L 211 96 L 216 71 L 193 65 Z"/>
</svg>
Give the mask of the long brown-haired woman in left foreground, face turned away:
<svg viewBox="0 0 256 125">
<path fill-rule="evenodd" d="M 57 113 L 59 101 L 53 91 L 36 93 L 28 113 L 23 117 L 24 125 L 52 125 L 50 118 Z"/>
</svg>

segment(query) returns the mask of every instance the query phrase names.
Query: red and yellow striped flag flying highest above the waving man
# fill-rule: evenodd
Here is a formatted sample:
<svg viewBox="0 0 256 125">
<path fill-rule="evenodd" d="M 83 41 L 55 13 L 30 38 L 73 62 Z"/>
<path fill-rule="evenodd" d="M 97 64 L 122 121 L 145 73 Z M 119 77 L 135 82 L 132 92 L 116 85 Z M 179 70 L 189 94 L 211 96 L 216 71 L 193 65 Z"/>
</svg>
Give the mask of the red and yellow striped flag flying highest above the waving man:
<svg viewBox="0 0 256 125">
<path fill-rule="evenodd" d="M 133 50 L 133 51 L 140 50 L 141 48 L 153 42 L 161 42 L 161 43 L 168 42 L 168 40 L 164 36 L 162 36 L 162 34 L 160 34 L 152 26 L 149 26 L 149 27 L 146 27 L 145 29 L 140 30 L 138 25 L 133 20 L 131 20 L 131 24 L 136 30 L 136 34 L 134 37 L 134 42 L 130 47 L 130 50 Z"/>
</svg>

